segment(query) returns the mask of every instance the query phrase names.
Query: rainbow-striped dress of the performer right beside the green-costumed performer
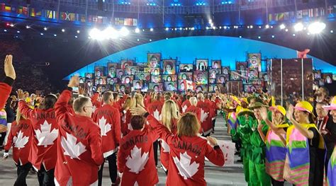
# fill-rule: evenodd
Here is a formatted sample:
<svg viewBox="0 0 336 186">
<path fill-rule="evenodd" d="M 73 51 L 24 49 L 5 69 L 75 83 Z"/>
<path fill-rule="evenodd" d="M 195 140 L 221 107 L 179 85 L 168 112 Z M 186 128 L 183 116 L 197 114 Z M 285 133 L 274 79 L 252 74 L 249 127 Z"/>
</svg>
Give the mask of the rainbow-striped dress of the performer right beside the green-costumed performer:
<svg viewBox="0 0 336 186">
<path fill-rule="evenodd" d="M 279 124 L 276 127 L 286 128 L 289 124 Z M 286 134 L 284 134 L 286 139 Z M 280 137 L 271 129 L 266 135 L 266 173 L 274 180 L 284 181 L 284 165 L 286 160 L 286 145 L 281 141 Z"/>
</svg>

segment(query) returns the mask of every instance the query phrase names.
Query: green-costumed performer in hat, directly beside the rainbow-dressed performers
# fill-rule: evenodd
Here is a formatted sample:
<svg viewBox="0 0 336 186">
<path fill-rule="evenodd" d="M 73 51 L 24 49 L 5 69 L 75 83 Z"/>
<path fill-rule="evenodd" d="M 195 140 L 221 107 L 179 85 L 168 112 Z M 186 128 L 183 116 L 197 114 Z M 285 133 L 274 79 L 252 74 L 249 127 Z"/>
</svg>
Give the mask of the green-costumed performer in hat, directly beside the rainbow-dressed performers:
<svg viewBox="0 0 336 186">
<path fill-rule="evenodd" d="M 267 124 L 262 120 L 260 110 L 264 107 L 262 103 L 256 102 L 251 105 L 250 109 L 254 112 L 256 120 L 250 122 L 252 133 L 250 136 L 252 152 L 249 161 L 250 183 L 251 185 L 271 185 L 271 179 L 266 173 L 265 168 L 265 144 L 259 133 L 265 135 L 269 129 Z"/>
</svg>

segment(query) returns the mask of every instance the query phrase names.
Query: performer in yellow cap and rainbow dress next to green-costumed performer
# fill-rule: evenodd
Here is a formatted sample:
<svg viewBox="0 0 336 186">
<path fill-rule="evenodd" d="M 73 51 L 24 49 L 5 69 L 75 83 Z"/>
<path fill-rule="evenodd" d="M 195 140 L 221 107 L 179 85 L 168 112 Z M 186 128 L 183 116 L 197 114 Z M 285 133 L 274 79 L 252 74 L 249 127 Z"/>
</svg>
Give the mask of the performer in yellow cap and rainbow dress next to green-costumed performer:
<svg viewBox="0 0 336 186">
<path fill-rule="evenodd" d="M 266 172 L 271 176 L 272 185 L 284 185 L 284 165 L 286 160 L 286 110 L 281 105 L 270 107 L 271 121 L 267 118 L 267 109 L 262 107 L 262 119 L 270 127 L 266 136 Z M 264 134 L 259 131 L 260 136 Z"/>
</svg>

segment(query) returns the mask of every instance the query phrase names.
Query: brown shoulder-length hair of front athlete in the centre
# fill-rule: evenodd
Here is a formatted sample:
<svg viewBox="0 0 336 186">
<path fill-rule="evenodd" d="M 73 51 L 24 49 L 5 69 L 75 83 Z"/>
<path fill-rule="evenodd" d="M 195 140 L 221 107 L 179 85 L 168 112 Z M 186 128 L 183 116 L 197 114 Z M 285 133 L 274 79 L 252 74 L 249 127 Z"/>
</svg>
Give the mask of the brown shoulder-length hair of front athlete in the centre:
<svg viewBox="0 0 336 186">
<path fill-rule="evenodd" d="M 192 112 L 186 112 L 177 122 L 178 136 L 197 136 L 201 124 L 199 124 L 197 117 Z"/>
</svg>

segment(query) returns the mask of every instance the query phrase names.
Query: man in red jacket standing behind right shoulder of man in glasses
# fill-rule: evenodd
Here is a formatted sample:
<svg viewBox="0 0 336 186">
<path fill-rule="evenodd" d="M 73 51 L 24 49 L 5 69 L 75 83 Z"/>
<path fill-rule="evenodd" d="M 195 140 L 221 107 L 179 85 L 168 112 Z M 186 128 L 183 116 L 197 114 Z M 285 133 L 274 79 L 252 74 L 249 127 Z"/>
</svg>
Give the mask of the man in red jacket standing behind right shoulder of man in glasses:
<svg viewBox="0 0 336 186">
<path fill-rule="evenodd" d="M 118 185 L 120 178 L 117 178 L 116 152 L 121 141 L 121 117 L 116 107 L 113 107 L 113 93 L 103 93 L 104 105 L 94 111 L 94 122 L 101 128 L 103 157 L 108 161 L 112 185 Z M 104 161 L 103 161 L 104 164 Z M 99 170 L 98 185 L 101 185 L 103 177 L 103 164 Z"/>
</svg>

